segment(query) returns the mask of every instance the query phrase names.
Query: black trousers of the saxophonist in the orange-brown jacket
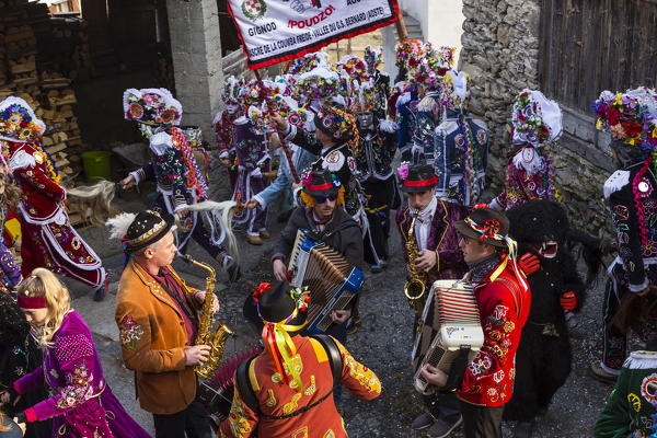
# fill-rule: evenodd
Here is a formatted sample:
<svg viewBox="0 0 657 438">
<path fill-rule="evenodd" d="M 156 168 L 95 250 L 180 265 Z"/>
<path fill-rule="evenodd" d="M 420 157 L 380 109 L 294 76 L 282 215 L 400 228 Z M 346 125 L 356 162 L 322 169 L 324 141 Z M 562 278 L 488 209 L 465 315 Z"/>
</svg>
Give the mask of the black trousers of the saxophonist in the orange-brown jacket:
<svg viewBox="0 0 657 438">
<path fill-rule="evenodd" d="M 153 422 L 155 438 L 211 438 L 215 436 L 210 424 L 211 419 L 198 399 L 175 414 L 153 414 Z"/>
</svg>

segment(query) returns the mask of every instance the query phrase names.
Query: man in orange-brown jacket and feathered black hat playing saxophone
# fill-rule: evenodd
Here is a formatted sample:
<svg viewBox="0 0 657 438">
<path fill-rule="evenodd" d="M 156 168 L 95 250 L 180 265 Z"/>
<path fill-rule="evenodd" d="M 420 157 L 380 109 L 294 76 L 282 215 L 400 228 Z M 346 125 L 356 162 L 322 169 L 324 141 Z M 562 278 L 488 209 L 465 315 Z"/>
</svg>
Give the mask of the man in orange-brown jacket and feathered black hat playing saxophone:
<svg viewBox="0 0 657 438">
<path fill-rule="evenodd" d="M 206 291 L 192 289 L 173 270 L 173 217 L 154 211 L 108 221 L 122 238 L 127 265 L 120 277 L 115 319 L 126 368 L 135 371 L 141 407 L 153 414 L 157 438 L 212 436 L 210 418 L 196 400 L 194 367 L 210 346 L 194 345 Z M 214 293 L 214 291 L 207 291 Z M 214 298 L 212 311 L 219 310 Z"/>
</svg>

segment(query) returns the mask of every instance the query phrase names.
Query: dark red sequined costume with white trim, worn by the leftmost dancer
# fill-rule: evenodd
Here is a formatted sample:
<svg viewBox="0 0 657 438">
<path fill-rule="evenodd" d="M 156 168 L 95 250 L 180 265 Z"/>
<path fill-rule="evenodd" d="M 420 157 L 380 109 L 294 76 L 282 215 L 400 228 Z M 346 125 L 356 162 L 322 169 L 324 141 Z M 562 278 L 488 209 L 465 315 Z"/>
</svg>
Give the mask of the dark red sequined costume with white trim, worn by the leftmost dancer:
<svg viewBox="0 0 657 438">
<path fill-rule="evenodd" d="M 19 205 L 23 235 L 22 272 L 37 267 L 100 288 L 107 275 L 101 258 L 71 227 L 66 211 L 66 191 L 49 176 L 49 159 L 30 143 L 5 141 L 9 163 L 23 192 Z"/>
</svg>

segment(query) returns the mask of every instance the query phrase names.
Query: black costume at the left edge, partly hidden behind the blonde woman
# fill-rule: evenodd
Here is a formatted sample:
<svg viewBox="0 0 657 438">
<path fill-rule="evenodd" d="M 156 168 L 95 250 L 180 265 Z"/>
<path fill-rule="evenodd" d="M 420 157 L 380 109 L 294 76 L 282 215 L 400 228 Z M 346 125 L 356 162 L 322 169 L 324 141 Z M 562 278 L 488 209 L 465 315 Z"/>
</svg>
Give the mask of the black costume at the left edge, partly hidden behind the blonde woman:
<svg viewBox="0 0 657 438">
<path fill-rule="evenodd" d="M 10 295 L 0 293 L 0 391 L 13 388 L 13 382 L 39 367 L 43 354 L 30 334 L 30 323 Z M 48 396 L 45 387 L 23 394 L 16 406 L 2 406 L 4 413 L 12 417 L 27 407 L 34 406 Z M 25 437 L 49 438 L 53 434 L 53 422 L 34 422 L 27 424 Z"/>
</svg>

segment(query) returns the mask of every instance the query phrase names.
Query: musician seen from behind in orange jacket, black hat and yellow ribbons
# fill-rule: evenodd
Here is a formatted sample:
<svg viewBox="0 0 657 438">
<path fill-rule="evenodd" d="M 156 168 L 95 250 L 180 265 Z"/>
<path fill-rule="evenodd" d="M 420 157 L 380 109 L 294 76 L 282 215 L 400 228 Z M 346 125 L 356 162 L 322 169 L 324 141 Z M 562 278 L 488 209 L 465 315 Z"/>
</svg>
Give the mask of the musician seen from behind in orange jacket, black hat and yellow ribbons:
<svg viewBox="0 0 657 438">
<path fill-rule="evenodd" d="M 265 324 L 265 350 L 238 368 L 232 407 L 221 424 L 220 438 L 347 437 L 331 396 L 335 383 L 359 399 L 381 394 L 374 372 L 335 338 L 298 334 L 306 325 L 309 293 L 290 290 L 285 281 L 263 284 L 254 292 Z"/>
</svg>

